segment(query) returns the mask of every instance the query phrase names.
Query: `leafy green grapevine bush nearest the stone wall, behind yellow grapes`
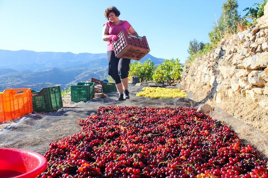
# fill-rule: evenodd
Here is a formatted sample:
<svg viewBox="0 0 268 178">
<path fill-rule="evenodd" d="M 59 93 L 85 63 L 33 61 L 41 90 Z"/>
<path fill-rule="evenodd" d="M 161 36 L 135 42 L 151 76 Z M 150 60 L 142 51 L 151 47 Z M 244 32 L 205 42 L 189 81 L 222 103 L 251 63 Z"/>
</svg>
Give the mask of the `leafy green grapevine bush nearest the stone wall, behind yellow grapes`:
<svg viewBox="0 0 268 178">
<path fill-rule="evenodd" d="M 155 73 L 153 75 L 153 79 L 155 82 L 167 82 L 168 85 L 171 85 L 178 80 L 182 74 L 182 67 L 179 63 L 179 59 L 165 59 L 162 64 L 159 64 Z"/>
</svg>

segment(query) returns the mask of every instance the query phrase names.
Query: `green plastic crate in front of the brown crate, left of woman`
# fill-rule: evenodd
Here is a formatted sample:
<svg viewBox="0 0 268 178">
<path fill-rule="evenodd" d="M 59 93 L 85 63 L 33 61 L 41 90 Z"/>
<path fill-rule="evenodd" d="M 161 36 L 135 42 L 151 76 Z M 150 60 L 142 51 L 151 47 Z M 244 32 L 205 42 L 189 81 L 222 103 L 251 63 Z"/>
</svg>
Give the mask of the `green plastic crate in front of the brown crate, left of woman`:
<svg viewBox="0 0 268 178">
<path fill-rule="evenodd" d="M 93 82 L 78 82 L 77 85 L 71 85 L 71 101 L 87 102 L 91 98 L 94 98 Z"/>
</svg>

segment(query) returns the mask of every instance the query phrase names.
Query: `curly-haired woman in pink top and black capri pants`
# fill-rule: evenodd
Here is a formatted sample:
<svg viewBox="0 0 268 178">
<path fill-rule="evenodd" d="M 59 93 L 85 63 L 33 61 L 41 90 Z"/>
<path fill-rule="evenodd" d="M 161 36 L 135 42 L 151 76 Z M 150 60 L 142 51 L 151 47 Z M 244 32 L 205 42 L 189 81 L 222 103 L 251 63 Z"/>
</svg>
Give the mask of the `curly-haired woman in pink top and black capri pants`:
<svg viewBox="0 0 268 178">
<path fill-rule="evenodd" d="M 120 12 L 116 7 L 112 6 L 105 10 L 104 16 L 109 20 L 103 25 L 102 39 L 108 41 L 107 57 L 109 61 L 108 74 L 114 79 L 119 96 L 116 101 L 129 99 L 128 92 L 128 71 L 130 59 L 117 58 L 114 54 L 112 41 L 118 39 L 117 35 L 121 31 L 139 36 L 128 21 L 119 20 Z"/>
</svg>

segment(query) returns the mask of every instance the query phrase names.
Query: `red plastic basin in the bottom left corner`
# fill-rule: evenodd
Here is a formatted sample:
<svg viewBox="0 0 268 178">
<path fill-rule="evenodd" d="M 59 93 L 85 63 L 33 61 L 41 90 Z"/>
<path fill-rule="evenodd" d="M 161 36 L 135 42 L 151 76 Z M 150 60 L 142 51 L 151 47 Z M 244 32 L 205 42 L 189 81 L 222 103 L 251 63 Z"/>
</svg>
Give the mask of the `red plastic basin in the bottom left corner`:
<svg viewBox="0 0 268 178">
<path fill-rule="evenodd" d="M 0 177 L 34 178 L 47 168 L 47 159 L 23 149 L 0 148 Z"/>
</svg>

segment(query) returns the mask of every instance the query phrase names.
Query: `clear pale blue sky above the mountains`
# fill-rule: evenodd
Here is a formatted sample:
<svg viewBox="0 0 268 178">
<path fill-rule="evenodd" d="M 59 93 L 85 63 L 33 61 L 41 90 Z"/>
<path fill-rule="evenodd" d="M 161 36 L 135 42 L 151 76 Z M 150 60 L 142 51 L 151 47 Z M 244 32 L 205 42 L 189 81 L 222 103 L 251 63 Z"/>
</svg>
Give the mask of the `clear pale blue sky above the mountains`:
<svg viewBox="0 0 268 178">
<path fill-rule="evenodd" d="M 0 0 L 0 49 L 72 53 L 106 53 L 101 39 L 107 7 L 120 10 L 140 36 L 146 36 L 150 54 L 164 59 L 189 56 L 189 41 L 209 42 L 215 15 L 226 0 Z M 261 0 L 238 0 L 238 11 Z M 256 7 L 256 6 L 254 6 Z"/>
</svg>

